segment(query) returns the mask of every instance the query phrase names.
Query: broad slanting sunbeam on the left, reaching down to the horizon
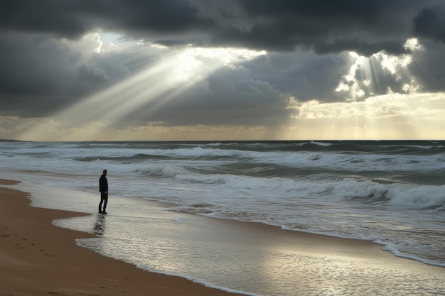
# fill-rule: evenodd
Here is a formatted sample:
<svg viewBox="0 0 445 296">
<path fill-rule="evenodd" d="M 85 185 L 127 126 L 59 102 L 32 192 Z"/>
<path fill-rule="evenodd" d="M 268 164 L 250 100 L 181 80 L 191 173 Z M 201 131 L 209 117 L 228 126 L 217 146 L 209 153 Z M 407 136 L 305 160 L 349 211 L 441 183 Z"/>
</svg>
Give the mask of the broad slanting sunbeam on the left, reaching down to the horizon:
<svg viewBox="0 0 445 296">
<path fill-rule="evenodd" d="M 235 49 L 188 48 L 163 55 L 145 70 L 127 80 L 108 87 L 82 99 L 77 104 L 51 116 L 51 121 L 33 126 L 23 132 L 20 138 L 52 138 L 50 131 L 57 125 L 65 131 L 62 140 L 82 138 L 84 128 L 107 130 L 121 124 L 127 116 L 144 108 L 144 116 L 173 98 L 181 98 L 186 89 L 205 80 L 220 67 L 232 62 L 249 60 L 264 52 Z M 149 107 L 146 107 L 149 106 Z M 85 137 L 83 137 L 85 138 Z M 86 140 L 94 140 L 94 133 Z"/>
</svg>

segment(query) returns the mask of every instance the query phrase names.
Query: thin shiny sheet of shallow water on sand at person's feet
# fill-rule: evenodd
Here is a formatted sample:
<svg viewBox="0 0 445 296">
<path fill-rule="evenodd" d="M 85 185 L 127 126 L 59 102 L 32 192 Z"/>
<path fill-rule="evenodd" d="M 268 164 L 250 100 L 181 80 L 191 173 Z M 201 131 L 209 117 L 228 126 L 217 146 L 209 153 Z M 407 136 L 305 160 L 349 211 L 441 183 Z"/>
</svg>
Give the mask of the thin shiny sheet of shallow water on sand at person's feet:
<svg viewBox="0 0 445 296">
<path fill-rule="evenodd" d="M 396 258 L 377 245 L 357 247 L 330 237 L 308 242 L 294 231 L 171 212 L 143 199 L 110 198 L 109 214 L 102 215 L 95 213 L 97 194 L 26 183 L 16 187 L 32 193 L 34 207 L 93 213 L 54 222 L 97 235 L 78 239 L 80 246 L 223 290 L 277 296 L 443 292 L 445 268 Z"/>
</svg>

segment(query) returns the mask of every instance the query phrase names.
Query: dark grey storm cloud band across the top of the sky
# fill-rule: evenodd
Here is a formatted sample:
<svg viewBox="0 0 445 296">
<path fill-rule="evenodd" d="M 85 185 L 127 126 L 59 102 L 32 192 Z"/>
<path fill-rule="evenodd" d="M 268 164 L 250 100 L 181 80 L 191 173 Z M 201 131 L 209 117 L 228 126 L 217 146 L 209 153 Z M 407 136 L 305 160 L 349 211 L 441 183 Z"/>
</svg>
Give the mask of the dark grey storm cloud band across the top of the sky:
<svg viewBox="0 0 445 296">
<path fill-rule="evenodd" d="M 65 38 L 102 28 L 168 45 L 371 55 L 404 53 L 414 26 L 443 40 L 440 9 L 438 0 L 14 0 L 0 4 L 0 28 Z"/>
</svg>

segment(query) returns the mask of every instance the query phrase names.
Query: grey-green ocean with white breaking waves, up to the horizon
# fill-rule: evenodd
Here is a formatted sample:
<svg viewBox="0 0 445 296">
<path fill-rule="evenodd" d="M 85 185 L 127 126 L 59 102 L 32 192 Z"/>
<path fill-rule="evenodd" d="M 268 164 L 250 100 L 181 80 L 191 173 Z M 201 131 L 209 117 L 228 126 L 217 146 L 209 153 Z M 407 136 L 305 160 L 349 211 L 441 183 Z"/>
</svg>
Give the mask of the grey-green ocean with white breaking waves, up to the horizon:
<svg viewBox="0 0 445 296">
<path fill-rule="evenodd" d="M 445 267 L 445 141 L 0 141 L 0 160 L 1 177 L 94 195 L 94 204 L 107 169 L 110 214 L 113 199 L 120 211 L 162 202 L 178 221 L 195 214 L 368 240 Z M 134 225 L 144 232 L 143 219 Z M 118 253 L 107 256 L 132 261 Z"/>
</svg>

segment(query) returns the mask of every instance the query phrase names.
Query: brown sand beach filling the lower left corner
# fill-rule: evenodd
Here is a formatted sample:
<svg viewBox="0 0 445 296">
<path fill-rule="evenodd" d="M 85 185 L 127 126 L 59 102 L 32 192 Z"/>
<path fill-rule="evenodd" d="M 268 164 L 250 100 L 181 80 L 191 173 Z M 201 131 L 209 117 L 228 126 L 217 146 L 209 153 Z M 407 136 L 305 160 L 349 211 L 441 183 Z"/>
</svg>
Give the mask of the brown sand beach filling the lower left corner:
<svg viewBox="0 0 445 296">
<path fill-rule="evenodd" d="M 18 183 L 0 179 L 0 185 Z M 236 295 L 77 246 L 76 239 L 95 235 L 51 222 L 90 214 L 30 203 L 26 192 L 0 187 L 0 295 Z"/>
</svg>

